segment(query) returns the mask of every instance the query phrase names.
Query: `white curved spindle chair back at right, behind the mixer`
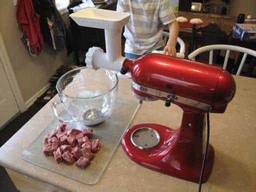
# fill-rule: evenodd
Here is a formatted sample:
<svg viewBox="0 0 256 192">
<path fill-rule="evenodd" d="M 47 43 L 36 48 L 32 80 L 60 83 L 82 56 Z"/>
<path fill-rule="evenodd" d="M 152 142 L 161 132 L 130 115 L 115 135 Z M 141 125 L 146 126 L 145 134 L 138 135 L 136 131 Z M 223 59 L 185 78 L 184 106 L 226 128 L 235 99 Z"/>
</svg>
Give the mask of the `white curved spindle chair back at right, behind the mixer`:
<svg viewBox="0 0 256 192">
<path fill-rule="evenodd" d="M 226 69 L 226 65 L 227 65 L 230 50 L 243 53 L 243 56 L 242 56 L 241 62 L 239 64 L 239 67 L 237 69 L 236 75 L 240 74 L 247 55 L 251 55 L 251 56 L 256 57 L 256 51 L 251 50 L 249 48 L 244 48 L 244 47 L 229 45 L 229 44 L 212 44 L 212 45 L 207 45 L 207 46 L 202 46 L 200 48 L 197 48 L 196 50 L 194 50 L 193 52 L 191 52 L 188 55 L 188 59 L 195 60 L 195 57 L 198 54 L 200 54 L 202 52 L 209 51 L 209 64 L 212 64 L 213 50 L 226 50 L 223 69 Z"/>
</svg>

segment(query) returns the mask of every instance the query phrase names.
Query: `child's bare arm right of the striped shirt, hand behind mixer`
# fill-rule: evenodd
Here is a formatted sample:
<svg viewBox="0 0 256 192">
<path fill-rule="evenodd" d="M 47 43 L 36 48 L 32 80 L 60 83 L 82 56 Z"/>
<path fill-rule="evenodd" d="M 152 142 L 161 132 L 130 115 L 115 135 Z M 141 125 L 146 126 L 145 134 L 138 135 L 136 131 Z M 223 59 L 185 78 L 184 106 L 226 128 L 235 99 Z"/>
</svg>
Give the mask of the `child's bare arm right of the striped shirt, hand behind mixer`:
<svg viewBox="0 0 256 192">
<path fill-rule="evenodd" d="M 175 46 L 176 46 L 179 26 L 177 21 L 175 20 L 169 23 L 168 26 L 169 26 L 169 39 L 163 49 L 163 54 L 176 56 Z"/>
</svg>

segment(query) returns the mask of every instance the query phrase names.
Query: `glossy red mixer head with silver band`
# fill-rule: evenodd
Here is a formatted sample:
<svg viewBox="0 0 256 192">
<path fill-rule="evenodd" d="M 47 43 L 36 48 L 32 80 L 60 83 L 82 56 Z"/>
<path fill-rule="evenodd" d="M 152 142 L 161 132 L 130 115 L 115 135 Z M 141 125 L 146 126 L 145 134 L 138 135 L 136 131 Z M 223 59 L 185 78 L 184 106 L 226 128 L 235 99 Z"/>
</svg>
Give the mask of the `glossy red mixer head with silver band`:
<svg viewBox="0 0 256 192">
<path fill-rule="evenodd" d="M 190 111 L 222 113 L 235 93 L 227 71 L 208 64 L 162 54 L 126 59 L 121 72 L 131 72 L 133 95 L 141 100 L 164 100 Z"/>
</svg>

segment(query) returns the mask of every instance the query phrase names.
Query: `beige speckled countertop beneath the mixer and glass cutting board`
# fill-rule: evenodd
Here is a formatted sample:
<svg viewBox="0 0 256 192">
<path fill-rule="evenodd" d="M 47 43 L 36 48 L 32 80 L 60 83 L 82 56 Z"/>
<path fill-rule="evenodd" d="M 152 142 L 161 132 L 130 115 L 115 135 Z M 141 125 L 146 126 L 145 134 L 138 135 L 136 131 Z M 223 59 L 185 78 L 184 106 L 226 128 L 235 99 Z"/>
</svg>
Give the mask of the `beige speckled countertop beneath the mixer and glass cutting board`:
<svg viewBox="0 0 256 192">
<path fill-rule="evenodd" d="M 203 191 L 256 190 L 256 79 L 235 77 L 236 94 L 224 114 L 210 114 L 210 143 L 215 149 L 212 174 Z M 134 99 L 130 79 L 120 79 L 119 92 Z M 179 126 L 181 109 L 162 101 L 143 102 L 132 124 L 154 122 Z M 21 151 L 53 120 L 50 103 L 37 112 L 0 148 L 0 165 L 69 191 L 196 191 L 197 184 L 144 168 L 119 145 L 94 185 L 86 185 L 31 164 Z"/>
</svg>

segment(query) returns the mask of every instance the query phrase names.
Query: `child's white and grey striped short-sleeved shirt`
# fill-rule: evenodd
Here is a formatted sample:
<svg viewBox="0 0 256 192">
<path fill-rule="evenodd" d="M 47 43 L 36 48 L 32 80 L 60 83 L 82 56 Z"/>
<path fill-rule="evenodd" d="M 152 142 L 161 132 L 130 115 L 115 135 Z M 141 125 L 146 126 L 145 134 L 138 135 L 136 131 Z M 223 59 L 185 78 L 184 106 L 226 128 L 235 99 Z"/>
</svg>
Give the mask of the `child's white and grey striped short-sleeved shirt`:
<svg viewBox="0 0 256 192">
<path fill-rule="evenodd" d="M 175 19 L 170 0 L 118 0 L 116 10 L 130 13 L 124 52 L 142 55 L 164 46 L 162 27 Z"/>
</svg>

